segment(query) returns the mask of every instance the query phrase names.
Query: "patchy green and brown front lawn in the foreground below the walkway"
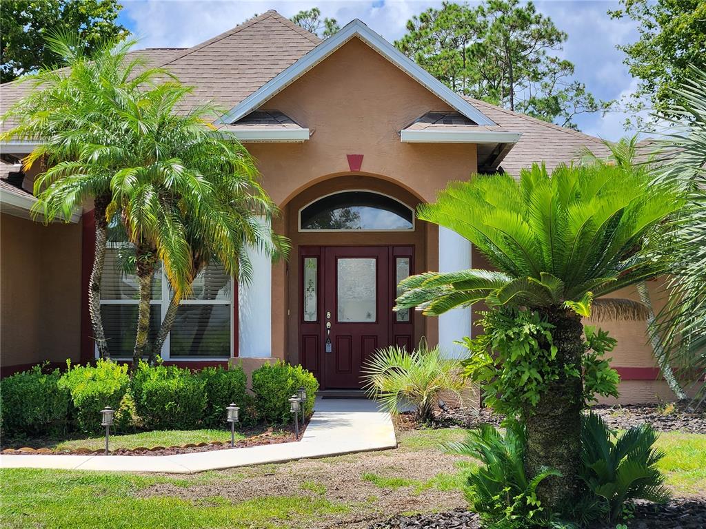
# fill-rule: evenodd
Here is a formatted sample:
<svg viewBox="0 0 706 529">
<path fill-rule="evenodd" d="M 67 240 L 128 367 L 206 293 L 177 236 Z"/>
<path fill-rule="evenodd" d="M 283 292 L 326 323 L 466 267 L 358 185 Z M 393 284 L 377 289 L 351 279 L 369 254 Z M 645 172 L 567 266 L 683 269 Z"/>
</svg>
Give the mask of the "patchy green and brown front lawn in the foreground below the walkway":
<svg viewBox="0 0 706 529">
<path fill-rule="evenodd" d="M 474 461 L 439 444 L 462 430 L 419 430 L 400 449 L 170 475 L 2 470 L 2 528 L 366 528 L 394 513 L 464 506 Z M 662 434 L 676 495 L 706 496 L 706 435 Z"/>
</svg>

